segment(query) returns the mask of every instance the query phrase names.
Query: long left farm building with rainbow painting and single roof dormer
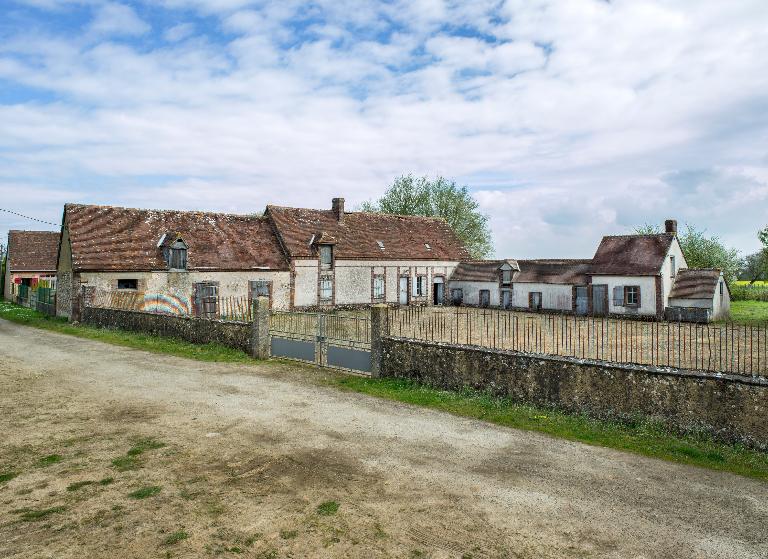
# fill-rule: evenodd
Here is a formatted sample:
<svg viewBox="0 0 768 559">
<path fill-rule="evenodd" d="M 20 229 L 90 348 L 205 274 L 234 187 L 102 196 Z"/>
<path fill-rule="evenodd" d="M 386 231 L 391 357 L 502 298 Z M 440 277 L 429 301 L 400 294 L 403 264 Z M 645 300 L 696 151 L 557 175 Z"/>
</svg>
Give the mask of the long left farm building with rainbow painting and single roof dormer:
<svg viewBox="0 0 768 559">
<path fill-rule="evenodd" d="M 290 304 L 288 262 L 266 218 L 67 204 L 62 223 L 61 316 L 77 318 L 83 287 L 134 293 L 143 310 L 174 314 L 216 315 L 222 297 Z"/>
</svg>

